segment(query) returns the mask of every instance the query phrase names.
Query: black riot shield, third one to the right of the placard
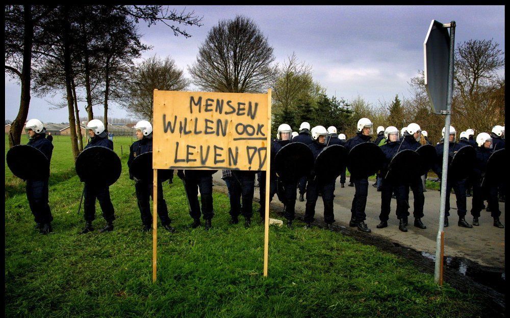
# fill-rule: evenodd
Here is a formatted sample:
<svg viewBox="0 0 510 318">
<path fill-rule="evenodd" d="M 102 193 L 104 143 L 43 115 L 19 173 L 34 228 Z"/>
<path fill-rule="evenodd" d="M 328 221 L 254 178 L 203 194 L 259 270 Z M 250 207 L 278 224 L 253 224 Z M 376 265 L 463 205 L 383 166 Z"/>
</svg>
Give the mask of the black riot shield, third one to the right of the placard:
<svg viewBox="0 0 510 318">
<path fill-rule="evenodd" d="M 356 144 L 347 156 L 347 169 L 356 178 L 372 176 L 386 160 L 379 146 L 372 142 Z"/>
</svg>

